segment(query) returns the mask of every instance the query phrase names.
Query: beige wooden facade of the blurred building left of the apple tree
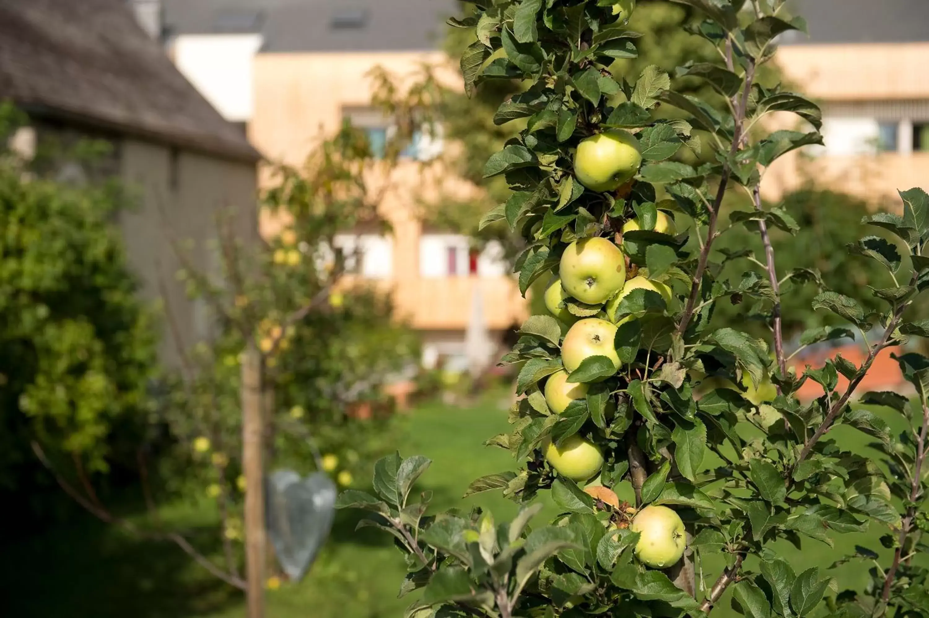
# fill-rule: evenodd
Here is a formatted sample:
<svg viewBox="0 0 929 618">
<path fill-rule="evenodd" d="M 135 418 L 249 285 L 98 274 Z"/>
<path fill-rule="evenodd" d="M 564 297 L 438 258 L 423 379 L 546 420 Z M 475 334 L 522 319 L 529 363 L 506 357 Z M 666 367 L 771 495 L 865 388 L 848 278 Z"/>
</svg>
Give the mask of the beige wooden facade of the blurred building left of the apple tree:
<svg viewBox="0 0 929 618">
<path fill-rule="evenodd" d="M 458 73 L 441 52 L 259 54 L 249 138 L 268 159 L 300 164 L 321 136 L 342 123 L 344 108 L 371 104 L 373 85 L 367 73 L 373 67 L 380 65 L 403 83 L 421 74 L 423 63 L 438 67 L 439 80 L 461 87 Z M 443 193 L 463 196 L 478 191 L 446 177 L 440 167 L 424 169 L 414 162 L 400 164 L 394 171 L 393 189 L 381 204 L 381 216 L 393 227 L 392 276 L 378 284 L 393 292 L 399 315 L 414 328 L 455 332 L 460 337 L 479 286 L 488 327 L 502 331 L 526 315 L 526 301 L 513 277 L 420 276 L 421 201 L 439 200 Z M 264 233 L 275 229 L 274 222 L 262 221 Z"/>
</svg>

